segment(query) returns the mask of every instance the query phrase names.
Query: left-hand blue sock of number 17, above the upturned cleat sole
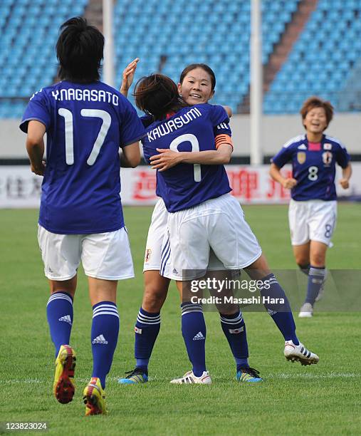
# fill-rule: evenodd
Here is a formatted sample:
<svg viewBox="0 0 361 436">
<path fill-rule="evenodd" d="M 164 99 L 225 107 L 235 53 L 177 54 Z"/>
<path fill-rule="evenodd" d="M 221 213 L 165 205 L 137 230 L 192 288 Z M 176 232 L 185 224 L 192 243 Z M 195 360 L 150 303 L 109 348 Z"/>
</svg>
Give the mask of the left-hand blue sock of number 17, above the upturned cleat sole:
<svg viewBox="0 0 361 436">
<path fill-rule="evenodd" d="M 46 306 L 46 317 L 57 357 L 61 346 L 69 345 L 70 342 L 71 326 L 73 325 L 72 297 L 63 291 L 51 294 Z"/>
</svg>

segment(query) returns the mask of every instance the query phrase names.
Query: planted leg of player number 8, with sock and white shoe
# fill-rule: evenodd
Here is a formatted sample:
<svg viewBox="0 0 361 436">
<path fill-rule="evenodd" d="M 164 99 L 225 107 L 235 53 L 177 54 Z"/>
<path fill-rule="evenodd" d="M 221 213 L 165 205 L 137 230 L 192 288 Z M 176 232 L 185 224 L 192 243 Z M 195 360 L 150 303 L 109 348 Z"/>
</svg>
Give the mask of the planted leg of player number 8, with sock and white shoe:
<svg viewBox="0 0 361 436">
<path fill-rule="evenodd" d="M 323 242 L 310 241 L 310 270 L 308 273 L 308 287 L 305 302 L 300 308 L 300 318 L 311 318 L 313 306 L 323 296 L 325 282 L 325 261 L 328 245 Z"/>
</svg>

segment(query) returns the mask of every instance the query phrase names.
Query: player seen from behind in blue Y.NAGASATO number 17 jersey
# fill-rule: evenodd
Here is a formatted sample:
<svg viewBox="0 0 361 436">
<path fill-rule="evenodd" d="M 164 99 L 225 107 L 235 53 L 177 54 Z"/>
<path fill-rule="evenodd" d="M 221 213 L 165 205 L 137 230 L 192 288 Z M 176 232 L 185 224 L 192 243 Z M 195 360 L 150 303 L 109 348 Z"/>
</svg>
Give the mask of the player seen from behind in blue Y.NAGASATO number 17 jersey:
<svg viewBox="0 0 361 436">
<path fill-rule="evenodd" d="M 120 202 L 122 166 L 140 162 L 145 130 L 117 90 L 99 81 L 104 37 L 82 18 L 61 26 L 56 43 L 60 83 L 35 93 L 21 121 L 31 170 L 43 175 L 38 242 L 49 279 L 47 317 L 56 349 L 54 394 L 74 395 L 70 347 L 80 261 L 93 306 L 93 374 L 84 390 L 85 415 L 106 414 L 105 377 L 117 345 L 117 281 L 134 276 Z M 46 164 L 43 136 L 47 134 Z"/>
</svg>

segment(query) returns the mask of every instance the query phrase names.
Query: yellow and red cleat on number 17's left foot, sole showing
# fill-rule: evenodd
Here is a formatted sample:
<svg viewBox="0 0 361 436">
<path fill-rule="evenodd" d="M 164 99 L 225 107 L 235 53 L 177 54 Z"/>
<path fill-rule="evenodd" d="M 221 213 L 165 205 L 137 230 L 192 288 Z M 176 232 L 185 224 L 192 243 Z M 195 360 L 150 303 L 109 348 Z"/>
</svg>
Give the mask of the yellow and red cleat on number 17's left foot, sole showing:
<svg viewBox="0 0 361 436">
<path fill-rule="evenodd" d="M 59 403 L 66 404 L 73 400 L 75 392 L 74 370 L 75 351 L 68 345 L 61 346 L 56 358 L 53 392 Z"/>
</svg>

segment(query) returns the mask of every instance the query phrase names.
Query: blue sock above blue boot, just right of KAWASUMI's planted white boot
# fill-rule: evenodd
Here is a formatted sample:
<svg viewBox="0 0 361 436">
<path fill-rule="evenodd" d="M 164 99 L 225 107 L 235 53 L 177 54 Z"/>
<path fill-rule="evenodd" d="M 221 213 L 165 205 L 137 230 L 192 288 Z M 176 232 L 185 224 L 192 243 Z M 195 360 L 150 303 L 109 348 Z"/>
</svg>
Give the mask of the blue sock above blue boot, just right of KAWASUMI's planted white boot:
<svg viewBox="0 0 361 436">
<path fill-rule="evenodd" d="M 236 360 L 237 371 L 248 365 L 248 343 L 246 325 L 240 311 L 221 316 L 221 327 Z"/>
</svg>

